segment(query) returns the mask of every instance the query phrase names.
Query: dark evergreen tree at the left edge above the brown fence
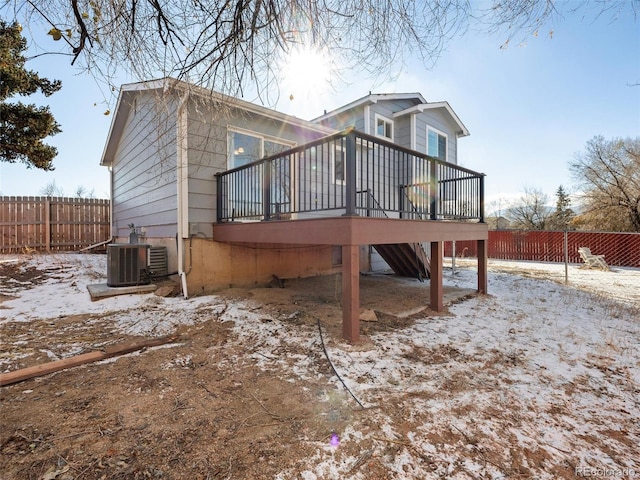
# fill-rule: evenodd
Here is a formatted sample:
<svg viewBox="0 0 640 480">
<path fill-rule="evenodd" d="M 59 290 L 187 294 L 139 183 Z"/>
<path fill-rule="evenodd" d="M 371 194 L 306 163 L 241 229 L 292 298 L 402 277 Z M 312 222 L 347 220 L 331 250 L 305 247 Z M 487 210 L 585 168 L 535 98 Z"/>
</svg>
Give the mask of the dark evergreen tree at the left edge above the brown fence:
<svg viewBox="0 0 640 480">
<path fill-rule="evenodd" d="M 59 80 L 40 78 L 25 68 L 27 41 L 21 31 L 20 24 L 0 20 L 0 161 L 53 170 L 58 151 L 42 140 L 61 130 L 49 107 L 7 102 L 15 95 L 28 96 L 38 90 L 48 97 L 62 86 Z"/>
</svg>

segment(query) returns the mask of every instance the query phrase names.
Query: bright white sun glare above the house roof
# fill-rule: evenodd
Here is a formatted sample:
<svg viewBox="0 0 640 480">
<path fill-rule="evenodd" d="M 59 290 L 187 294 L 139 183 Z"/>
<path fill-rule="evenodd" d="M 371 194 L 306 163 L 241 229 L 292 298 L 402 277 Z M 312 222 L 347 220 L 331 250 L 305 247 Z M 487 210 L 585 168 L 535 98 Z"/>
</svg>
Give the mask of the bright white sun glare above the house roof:
<svg viewBox="0 0 640 480">
<path fill-rule="evenodd" d="M 291 100 L 309 99 L 329 89 L 329 55 L 312 47 L 298 47 L 285 57 L 282 68 L 282 93 Z"/>
</svg>

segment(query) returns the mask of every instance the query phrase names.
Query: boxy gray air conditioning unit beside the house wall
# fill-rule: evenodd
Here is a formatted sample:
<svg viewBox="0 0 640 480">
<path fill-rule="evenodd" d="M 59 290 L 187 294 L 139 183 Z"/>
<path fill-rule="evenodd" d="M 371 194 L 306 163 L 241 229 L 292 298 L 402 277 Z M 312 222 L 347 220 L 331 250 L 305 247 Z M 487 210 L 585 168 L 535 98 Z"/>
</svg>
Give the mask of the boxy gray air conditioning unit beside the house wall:
<svg viewBox="0 0 640 480">
<path fill-rule="evenodd" d="M 149 247 L 140 243 L 107 245 L 107 285 L 128 287 L 150 283 Z"/>
</svg>

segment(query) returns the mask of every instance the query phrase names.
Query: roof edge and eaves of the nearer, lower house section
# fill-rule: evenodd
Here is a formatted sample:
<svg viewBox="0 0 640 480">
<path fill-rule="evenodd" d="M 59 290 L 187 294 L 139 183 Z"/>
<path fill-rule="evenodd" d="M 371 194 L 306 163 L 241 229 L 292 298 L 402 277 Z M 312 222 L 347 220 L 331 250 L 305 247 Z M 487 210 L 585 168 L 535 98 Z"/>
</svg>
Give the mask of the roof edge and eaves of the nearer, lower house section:
<svg viewBox="0 0 640 480">
<path fill-rule="evenodd" d="M 239 98 L 231 97 L 220 92 L 212 91 L 197 85 L 193 85 L 175 78 L 165 77 L 156 80 L 148 80 L 145 82 L 124 84 L 120 87 L 120 93 L 118 95 L 118 102 L 116 104 L 115 113 L 111 120 L 111 126 L 109 127 L 109 134 L 107 141 L 100 159 L 100 165 L 111 165 L 118 148 L 120 136 L 124 130 L 124 126 L 129 117 L 129 111 L 131 109 L 133 98 L 142 93 L 152 90 L 171 90 L 175 95 L 197 95 L 201 98 L 210 99 L 212 102 L 223 102 L 227 105 L 237 107 L 247 112 L 255 113 L 257 115 L 271 118 L 273 120 L 285 122 L 291 125 L 301 126 L 317 132 L 331 134 L 335 130 L 318 125 L 316 123 L 309 122 L 307 120 L 300 119 L 285 113 L 272 110 L 255 103 L 241 100 Z"/>
</svg>

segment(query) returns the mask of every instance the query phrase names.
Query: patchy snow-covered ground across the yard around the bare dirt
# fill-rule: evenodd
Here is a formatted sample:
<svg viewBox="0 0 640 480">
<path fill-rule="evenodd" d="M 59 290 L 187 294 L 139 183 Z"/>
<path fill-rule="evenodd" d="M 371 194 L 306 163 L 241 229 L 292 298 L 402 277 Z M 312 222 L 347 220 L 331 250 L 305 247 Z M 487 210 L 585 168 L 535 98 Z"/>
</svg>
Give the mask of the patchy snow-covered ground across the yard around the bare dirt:
<svg viewBox="0 0 640 480">
<path fill-rule="evenodd" d="M 24 258 L 0 257 L 15 261 Z M 445 286 L 474 288 L 474 263 L 457 260 Z M 219 304 L 214 295 L 185 301 L 153 294 L 91 302 L 86 285 L 105 281 L 104 256 L 39 255 L 26 265 L 48 268 L 52 277 L 28 290 L 5 287 L 5 298 L 18 298 L 2 302 L 0 323 L 119 312 L 122 332 L 161 335 Z M 640 478 L 640 270 L 571 265 L 564 285 L 564 268 L 490 261 L 489 295 L 373 334 L 368 349 L 325 339 L 377 429 L 347 422 L 336 432 L 340 447 L 318 443 L 301 471 L 277 478 L 364 480 L 371 477 L 359 465 L 371 456 L 394 479 Z M 259 321 L 250 301 L 230 305 L 224 317 L 235 322 L 234 341 L 253 342 L 250 355 L 263 368 L 283 367 L 292 382 L 317 375 L 309 355 L 277 353 L 283 343 L 317 346 L 311 327 Z M 402 412 L 402 422 L 385 406 Z M 349 443 L 364 453 L 339 455 Z M 397 447 L 393 455 L 388 445 Z"/>
</svg>

